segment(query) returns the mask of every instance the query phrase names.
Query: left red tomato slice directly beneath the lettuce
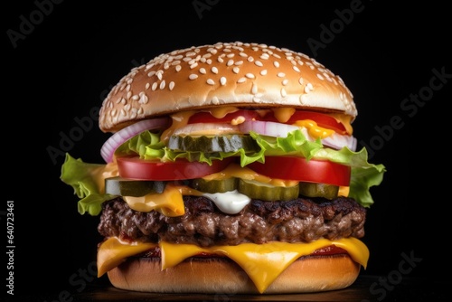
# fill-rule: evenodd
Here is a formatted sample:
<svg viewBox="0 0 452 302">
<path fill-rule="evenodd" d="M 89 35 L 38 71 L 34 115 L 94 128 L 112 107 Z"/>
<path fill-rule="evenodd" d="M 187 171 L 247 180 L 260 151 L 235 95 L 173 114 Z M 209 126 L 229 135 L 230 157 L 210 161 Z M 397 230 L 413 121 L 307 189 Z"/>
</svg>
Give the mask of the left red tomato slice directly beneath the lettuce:
<svg viewBox="0 0 452 302">
<path fill-rule="evenodd" d="M 220 172 L 231 164 L 233 157 L 213 160 L 212 165 L 177 159 L 165 162 L 140 159 L 138 156 L 117 157 L 118 172 L 121 177 L 137 180 L 171 181 L 200 178 Z"/>
</svg>

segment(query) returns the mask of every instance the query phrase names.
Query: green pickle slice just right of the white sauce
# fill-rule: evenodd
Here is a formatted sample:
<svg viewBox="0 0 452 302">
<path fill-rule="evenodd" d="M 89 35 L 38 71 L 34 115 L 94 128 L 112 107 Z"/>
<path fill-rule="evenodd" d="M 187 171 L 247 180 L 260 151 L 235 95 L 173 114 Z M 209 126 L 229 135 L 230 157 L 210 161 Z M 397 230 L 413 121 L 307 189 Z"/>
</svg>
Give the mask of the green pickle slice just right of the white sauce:
<svg viewBox="0 0 452 302">
<path fill-rule="evenodd" d="M 250 198 L 263 201 L 289 201 L 296 199 L 299 193 L 299 186 L 274 186 L 271 184 L 262 184 L 253 180 L 240 179 L 238 190 L 240 193 Z"/>
</svg>

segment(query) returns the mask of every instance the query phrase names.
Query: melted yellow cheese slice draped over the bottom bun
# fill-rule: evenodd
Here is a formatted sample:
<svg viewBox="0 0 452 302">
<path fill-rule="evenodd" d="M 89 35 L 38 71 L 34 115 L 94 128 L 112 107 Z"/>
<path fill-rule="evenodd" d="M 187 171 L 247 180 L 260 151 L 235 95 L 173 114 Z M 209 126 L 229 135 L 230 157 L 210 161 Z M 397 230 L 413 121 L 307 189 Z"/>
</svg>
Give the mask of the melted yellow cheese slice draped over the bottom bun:
<svg viewBox="0 0 452 302">
<path fill-rule="evenodd" d="M 222 255 L 234 260 L 248 274 L 260 293 L 263 293 L 288 266 L 301 256 L 306 256 L 334 244 L 347 250 L 350 257 L 363 265 L 364 269 L 369 260 L 369 250 L 366 245 L 356 238 L 344 238 L 336 241 L 320 239 L 309 243 L 268 242 L 265 244 L 243 243 L 237 246 L 214 246 L 201 248 L 193 244 L 175 244 L 161 241 L 158 245 L 162 252 L 162 269 L 172 268 L 187 258 L 199 253 Z M 141 248 L 143 246 L 143 248 Z M 155 247 L 151 243 L 137 243 L 131 246 L 137 253 Z M 108 250 L 108 253 L 104 250 Z M 114 269 L 124 258 L 132 256 L 127 245 L 116 238 L 110 238 L 99 247 L 98 270 L 99 276 L 109 269 Z M 110 258 L 106 257 L 109 255 Z"/>
</svg>

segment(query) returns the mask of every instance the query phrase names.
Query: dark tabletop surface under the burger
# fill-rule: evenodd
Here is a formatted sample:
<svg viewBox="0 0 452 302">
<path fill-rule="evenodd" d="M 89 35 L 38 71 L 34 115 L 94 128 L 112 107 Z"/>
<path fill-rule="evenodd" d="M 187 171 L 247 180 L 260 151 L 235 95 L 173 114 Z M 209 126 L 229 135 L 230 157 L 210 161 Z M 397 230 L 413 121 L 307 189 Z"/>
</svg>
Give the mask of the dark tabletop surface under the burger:
<svg viewBox="0 0 452 302">
<path fill-rule="evenodd" d="M 361 276 L 351 287 L 305 294 L 158 294 L 113 288 L 91 283 L 80 291 L 24 295 L 22 301 L 450 301 L 447 283 L 423 278 Z"/>
</svg>

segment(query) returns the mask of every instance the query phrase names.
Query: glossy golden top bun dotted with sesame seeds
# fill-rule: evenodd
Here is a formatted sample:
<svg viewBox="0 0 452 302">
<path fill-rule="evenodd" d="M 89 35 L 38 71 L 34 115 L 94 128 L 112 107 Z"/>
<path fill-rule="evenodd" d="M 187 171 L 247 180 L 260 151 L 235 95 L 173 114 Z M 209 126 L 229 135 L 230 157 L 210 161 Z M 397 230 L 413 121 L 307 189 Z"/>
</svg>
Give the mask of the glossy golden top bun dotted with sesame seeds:
<svg viewBox="0 0 452 302">
<path fill-rule="evenodd" d="M 139 119 L 218 105 L 357 115 L 343 80 L 305 54 L 219 42 L 163 53 L 134 68 L 104 99 L 99 127 L 116 132 Z"/>
</svg>

